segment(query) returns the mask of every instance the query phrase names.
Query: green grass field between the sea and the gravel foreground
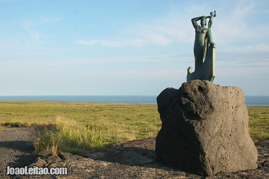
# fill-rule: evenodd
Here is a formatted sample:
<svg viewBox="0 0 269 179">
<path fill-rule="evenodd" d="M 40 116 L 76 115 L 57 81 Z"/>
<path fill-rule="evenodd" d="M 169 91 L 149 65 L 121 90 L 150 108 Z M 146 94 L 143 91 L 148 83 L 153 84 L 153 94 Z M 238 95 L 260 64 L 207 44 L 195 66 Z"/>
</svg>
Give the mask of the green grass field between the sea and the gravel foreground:
<svg viewBox="0 0 269 179">
<path fill-rule="evenodd" d="M 248 107 L 249 133 L 269 139 L 269 106 Z M 84 150 L 117 141 L 156 136 L 157 105 L 95 102 L 1 101 L 0 124 L 38 124 L 37 150 Z M 50 124 L 50 125 L 48 125 Z"/>
</svg>

